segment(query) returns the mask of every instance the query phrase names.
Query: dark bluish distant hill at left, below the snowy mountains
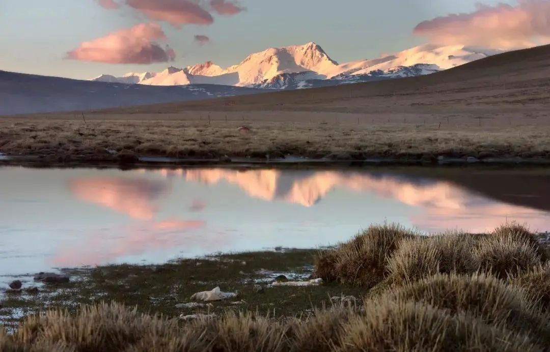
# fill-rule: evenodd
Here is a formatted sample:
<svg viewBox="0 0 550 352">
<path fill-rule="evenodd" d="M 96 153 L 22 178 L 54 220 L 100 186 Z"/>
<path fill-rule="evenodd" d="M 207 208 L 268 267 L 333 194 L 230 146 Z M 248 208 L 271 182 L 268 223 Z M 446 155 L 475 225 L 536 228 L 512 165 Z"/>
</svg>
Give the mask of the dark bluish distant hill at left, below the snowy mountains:
<svg viewBox="0 0 550 352">
<path fill-rule="evenodd" d="M 95 110 L 265 92 L 222 85 L 144 86 L 0 71 L 0 115 Z"/>
</svg>

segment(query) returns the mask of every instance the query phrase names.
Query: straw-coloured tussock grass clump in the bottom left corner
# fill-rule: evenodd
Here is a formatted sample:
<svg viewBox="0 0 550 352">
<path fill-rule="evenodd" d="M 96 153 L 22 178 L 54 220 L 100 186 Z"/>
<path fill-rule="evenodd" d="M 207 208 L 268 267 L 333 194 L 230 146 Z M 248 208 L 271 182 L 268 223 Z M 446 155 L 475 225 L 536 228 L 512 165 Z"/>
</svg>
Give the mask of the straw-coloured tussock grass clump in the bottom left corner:
<svg viewBox="0 0 550 352">
<path fill-rule="evenodd" d="M 177 320 L 138 314 L 117 304 L 83 306 L 78 315 L 53 310 L 31 316 L 14 334 L 15 344 L 38 348 L 56 344 L 67 351 L 200 350 L 200 335 L 189 338 Z"/>
</svg>

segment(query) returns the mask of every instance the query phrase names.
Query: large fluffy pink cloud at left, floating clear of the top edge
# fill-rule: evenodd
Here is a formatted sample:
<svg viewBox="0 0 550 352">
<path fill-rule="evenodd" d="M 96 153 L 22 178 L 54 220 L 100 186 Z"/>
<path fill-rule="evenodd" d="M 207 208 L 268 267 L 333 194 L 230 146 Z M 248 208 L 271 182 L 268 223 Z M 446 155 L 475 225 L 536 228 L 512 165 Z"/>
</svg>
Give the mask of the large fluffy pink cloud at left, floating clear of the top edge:
<svg viewBox="0 0 550 352">
<path fill-rule="evenodd" d="M 108 64 L 151 64 L 173 61 L 174 51 L 161 47 L 157 41 L 166 40 L 160 25 L 139 24 L 129 29 L 109 33 L 105 37 L 80 46 L 67 54 L 68 59 Z"/>
</svg>

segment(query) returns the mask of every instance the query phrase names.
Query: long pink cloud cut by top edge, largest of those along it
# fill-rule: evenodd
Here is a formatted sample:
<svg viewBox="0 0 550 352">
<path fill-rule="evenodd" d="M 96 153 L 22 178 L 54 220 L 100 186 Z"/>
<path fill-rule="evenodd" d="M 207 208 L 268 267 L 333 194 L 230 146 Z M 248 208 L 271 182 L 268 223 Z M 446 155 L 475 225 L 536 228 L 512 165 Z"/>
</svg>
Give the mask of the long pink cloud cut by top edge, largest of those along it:
<svg viewBox="0 0 550 352">
<path fill-rule="evenodd" d="M 130 7 L 155 21 L 165 21 L 175 27 L 184 24 L 210 25 L 212 15 L 193 0 L 127 0 Z"/>
</svg>

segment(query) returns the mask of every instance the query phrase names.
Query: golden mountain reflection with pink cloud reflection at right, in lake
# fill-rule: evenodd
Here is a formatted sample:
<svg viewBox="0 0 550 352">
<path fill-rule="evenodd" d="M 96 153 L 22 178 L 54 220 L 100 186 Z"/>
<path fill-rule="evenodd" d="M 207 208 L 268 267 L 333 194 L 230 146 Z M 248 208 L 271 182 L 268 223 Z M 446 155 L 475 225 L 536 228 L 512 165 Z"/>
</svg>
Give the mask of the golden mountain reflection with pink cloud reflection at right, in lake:
<svg viewBox="0 0 550 352">
<path fill-rule="evenodd" d="M 372 192 L 419 209 L 419 214 L 410 217 L 412 224 L 431 232 L 456 227 L 485 232 L 509 220 L 529 222 L 540 230 L 547 230 L 550 225 L 546 211 L 497 202 L 445 181 L 338 171 L 293 173 L 212 169 L 162 170 L 161 174 L 179 175 L 187 181 L 206 185 L 224 181 L 239 186 L 251 197 L 283 200 L 306 207 L 314 206 L 337 188 Z"/>
</svg>

